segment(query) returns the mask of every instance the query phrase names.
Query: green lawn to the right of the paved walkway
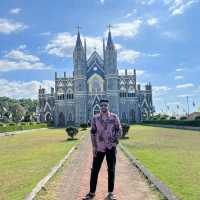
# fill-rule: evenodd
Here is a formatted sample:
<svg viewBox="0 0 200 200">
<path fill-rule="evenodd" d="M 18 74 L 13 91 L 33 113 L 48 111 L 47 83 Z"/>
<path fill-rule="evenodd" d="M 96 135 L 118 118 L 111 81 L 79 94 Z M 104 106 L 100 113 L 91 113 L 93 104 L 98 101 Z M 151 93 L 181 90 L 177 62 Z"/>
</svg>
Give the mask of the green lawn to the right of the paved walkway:
<svg viewBox="0 0 200 200">
<path fill-rule="evenodd" d="M 131 126 L 128 151 L 180 199 L 200 199 L 200 132 Z"/>
</svg>

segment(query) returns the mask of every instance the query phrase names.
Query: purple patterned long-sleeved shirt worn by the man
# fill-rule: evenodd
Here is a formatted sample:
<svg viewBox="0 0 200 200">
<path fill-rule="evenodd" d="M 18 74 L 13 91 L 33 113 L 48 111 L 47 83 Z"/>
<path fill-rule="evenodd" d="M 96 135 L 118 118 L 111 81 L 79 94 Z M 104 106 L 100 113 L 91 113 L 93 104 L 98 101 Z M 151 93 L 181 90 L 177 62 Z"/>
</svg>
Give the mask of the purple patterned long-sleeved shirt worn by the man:
<svg viewBox="0 0 200 200">
<path fill-rule="evenodd" d="M 107 117 L 102 118 L 102 113 L 98 113 L 92 118 L 91 141 L 97 151 L 105 152 L 106 148 L 116 147 L 121 136 L 122 127 L 116 114 L 108 112 Z"/>
</svg>

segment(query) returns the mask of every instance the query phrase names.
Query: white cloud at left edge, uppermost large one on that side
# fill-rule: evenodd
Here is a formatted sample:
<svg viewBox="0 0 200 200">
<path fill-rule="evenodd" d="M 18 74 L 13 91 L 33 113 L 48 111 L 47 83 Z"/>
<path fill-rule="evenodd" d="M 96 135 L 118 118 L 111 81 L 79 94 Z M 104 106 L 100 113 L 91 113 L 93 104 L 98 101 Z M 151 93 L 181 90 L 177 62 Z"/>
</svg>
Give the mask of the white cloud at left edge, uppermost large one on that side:
<svg viewBox="0 0 200 200">
<path fill-rule="evenodd" d="M 0 33 L 10 34 L 12 32 L 23 31 L 26 28 L 28 28 L 28 26 L 22 22 L 0 18 Z"/>
</svg>

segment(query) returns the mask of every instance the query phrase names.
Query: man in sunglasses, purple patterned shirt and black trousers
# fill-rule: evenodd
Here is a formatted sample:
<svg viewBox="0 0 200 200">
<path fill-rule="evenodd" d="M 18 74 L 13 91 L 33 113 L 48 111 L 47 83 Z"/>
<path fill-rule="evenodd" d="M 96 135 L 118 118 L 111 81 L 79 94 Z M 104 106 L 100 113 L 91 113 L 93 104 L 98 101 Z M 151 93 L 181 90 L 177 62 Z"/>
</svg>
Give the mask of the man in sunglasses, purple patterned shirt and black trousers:
<svg viewBox="0 0 200 200">
<path fill-rule="evenodd" d="M 122 136 L 122 127 L 118 116 L 108 110 L 109 101 L 100 100 L 101 112 L 96 114 L 91 120 L 91 141 L 93 150 L 93 163 L 90 176 L 90 192 L 83 200 L 95 197 L 98 174 L 101 164 L 106 155 L 108 167 L 108 196 L 110 200 L 115 200 L 113 194 L 115 182 L 115 165 L 118 139 Z"/>
</svg>

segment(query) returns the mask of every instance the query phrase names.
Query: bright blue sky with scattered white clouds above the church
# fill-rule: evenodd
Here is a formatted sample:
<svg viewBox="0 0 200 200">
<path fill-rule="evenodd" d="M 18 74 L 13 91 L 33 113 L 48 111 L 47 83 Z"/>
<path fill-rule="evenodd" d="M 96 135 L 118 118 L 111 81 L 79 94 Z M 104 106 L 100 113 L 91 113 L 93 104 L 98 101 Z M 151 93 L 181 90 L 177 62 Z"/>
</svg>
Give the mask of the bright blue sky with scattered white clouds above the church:
<svg viewBox="0 0 200 200">
<path fill-rule="evenodd" d="M 199 19 L 200 0 L 1 0 L 0 96 L 37 98 L 41 84 L 53 85 L 55 71 L 72 74 L 78 24 L 88 56 L 94 48 L 102 53 L 112 24 L 118 68 L 136 68 L 139 83 L 152 83 L 156 111 L 186 112 L 186 96 L 194 111 Z"/>
</svg>

